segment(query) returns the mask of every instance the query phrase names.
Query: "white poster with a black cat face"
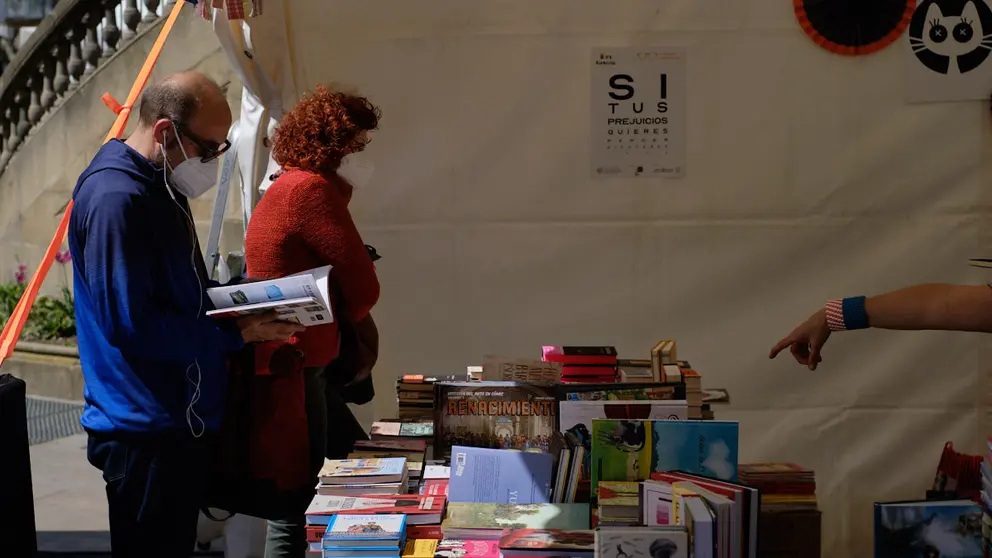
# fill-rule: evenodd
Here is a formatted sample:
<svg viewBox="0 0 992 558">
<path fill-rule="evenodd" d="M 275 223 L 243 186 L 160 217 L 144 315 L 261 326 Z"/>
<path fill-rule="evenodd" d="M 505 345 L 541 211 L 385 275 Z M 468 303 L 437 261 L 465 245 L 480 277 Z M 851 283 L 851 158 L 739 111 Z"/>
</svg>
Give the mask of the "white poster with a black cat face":
<svg viewBox="0 0 992 558">
<path fill-rule="evenodd" d="M 992 93 L 987 0 L 920 0 L 901 48 L 909 102 L 985 100 Z"/>
</svg>

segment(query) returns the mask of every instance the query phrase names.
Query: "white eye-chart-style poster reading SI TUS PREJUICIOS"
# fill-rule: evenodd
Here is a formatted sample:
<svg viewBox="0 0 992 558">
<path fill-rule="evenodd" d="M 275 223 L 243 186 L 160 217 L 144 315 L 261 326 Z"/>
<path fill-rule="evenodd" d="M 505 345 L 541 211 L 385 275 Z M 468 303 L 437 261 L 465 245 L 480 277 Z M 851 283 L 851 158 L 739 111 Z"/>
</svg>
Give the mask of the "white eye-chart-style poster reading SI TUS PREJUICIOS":
<svg viewBox="0 0 992 558">
<path fill-rule="evenodd" d="M 685 49 L 592 51 L 593 178 L 685 176 Z"/>
</svg>

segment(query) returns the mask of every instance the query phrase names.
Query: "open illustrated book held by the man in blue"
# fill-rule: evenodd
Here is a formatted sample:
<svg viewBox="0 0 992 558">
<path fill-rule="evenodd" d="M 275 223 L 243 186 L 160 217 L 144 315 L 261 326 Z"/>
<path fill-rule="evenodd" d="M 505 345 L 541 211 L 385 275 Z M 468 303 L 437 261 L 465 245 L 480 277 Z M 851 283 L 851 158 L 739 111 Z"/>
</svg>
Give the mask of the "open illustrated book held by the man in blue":
<svg viewBox="0 0 992 558">
<path fill-rule="evenodd" d="M 237 318 L 275 310 L 279 319 L 304 326 L 329 324 L 331 315 L 327 277 L 331 266 L 318 267 L 281 279 L 207 289 L 216 310 L 214 318 Z"/>
</svg>

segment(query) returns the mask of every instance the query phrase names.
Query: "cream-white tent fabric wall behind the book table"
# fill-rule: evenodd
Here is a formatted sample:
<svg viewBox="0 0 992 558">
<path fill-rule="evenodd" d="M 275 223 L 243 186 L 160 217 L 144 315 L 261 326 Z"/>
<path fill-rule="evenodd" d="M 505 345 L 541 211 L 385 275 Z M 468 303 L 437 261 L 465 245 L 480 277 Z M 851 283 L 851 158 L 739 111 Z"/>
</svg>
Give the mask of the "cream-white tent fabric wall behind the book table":
<svg viewBox="0 0 992 558">
<path fill-rule="evenodd" d="M 780 0 L 266 0 L 245 29 L 232 61 L 281 93 L 246 80 L 245 124 L 327 82 L 383 110 L 352 203 L 383 255 L 379 416 L 399 374 L 675 338 L 729 388 L 742 461 L 815 468 L 823 555 L 858 558 L 873 502 L 922 498 L 947 441 L 982 451 L 985 336 L 838 334 L 815 373 L 767 359 L 828 298 L 988 279 L 966 265 L 992 249 L 988 108 L 904 102 L 908 45 L 830 54 Z M 626 45 L 686 48 L 684 179 L 590 177 L 589 55 Z"/>
</svg>

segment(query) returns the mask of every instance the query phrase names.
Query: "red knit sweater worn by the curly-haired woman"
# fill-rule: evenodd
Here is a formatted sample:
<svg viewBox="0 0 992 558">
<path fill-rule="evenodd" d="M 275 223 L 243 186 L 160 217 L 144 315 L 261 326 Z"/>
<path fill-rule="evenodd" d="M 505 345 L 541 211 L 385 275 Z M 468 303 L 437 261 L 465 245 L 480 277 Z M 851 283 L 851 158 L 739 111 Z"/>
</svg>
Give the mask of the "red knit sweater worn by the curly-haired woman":
<svg viewBox="0 0 992 558">
<path fill-rule="evenodd" d="M 360 321 L 379 300 L 375 266 L 348 212 L 350 188 L 337 175 L 289 170 L 269 186 L 248 223 L 248 277 L 275 279 L 332 266 L 334 323 L 308 327 L 291 340 L 308 367 L 337 358 L 337 322 Z"/>
</svg>

